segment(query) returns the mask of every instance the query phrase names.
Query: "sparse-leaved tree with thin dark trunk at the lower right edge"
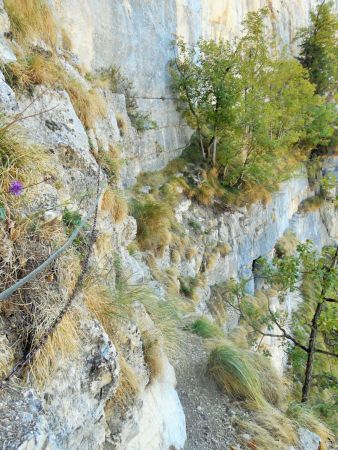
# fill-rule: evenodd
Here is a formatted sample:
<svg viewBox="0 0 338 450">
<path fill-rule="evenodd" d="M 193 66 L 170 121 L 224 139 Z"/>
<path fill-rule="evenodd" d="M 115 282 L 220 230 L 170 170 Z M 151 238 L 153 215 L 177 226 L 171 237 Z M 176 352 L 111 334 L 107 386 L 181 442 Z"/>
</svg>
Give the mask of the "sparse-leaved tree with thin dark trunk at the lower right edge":
<svg viewBox="0 0 338 450">
<path fill-rule="evenodd" d="M 275 258 L 272 263 L 260 259 L 257 276 L 265 280 L 277 292 L 280 301 L 288 293 L 307 286 L 311 295 L 305 295 L 304 302 L 289 318 L 273 308 L 271 294 L 259 298 L 248 296 L 246 281 L 233 283 L 225 301 L 237 309 L 250 326 L 253 337 L 270 336 L 284 340 L 290 348 L 302 355 L 302 402 L 309 399 L 313 379 L 322 378 L 326 382 L 337 377 L 337 367 L 333 365 L 330 375 L 318 356 L 338 357 L 336 314 L 338 304 L 338 248 L 325 248 L 318 254 L 310 242 L 299 244 L 293 256 Z M 290 325 L 290 326 L 289 326 Z M 316 361 L 317 360 L 317 361 Z M 326 365 L 327 366 L 327 365 Z M 298 367 L 300 370 L 300 367 Z"/>
</svg>

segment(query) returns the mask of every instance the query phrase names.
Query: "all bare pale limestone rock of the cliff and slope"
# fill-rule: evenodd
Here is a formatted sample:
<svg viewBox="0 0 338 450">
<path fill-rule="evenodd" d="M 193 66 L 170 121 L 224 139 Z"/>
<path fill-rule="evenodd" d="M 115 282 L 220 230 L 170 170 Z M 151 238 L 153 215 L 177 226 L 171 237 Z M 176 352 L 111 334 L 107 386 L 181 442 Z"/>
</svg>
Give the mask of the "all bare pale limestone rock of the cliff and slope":
<svg viewBox="0 0 338 450">
<path fill-rule="evenodd" d="M 261 3 L 243 1 L 236 2 L 236 7 L 233 7 L 228 0 L 86 0 L 79 8 L 79 3 L 72 0 L 50 2 L 60 29 L 67 31 L 72 42 L 74 55 L 69 57 L 59 50 L 64 71 L 76 77 L 81 86 L 89 88 L 89 81 L 77 70 L 77 64 L 93 72 L 111 65 L 120 66 L 134 83 L 140 110 L 151 111 L 156 120 L 158 126 L 155 130 L 137 132 L 128 116 L 123 94 L 99 89 L 106 104 L 106 114 L 96 118 L 92 127 L 85 128 L 65 90 L 38 86 L 32 102 L 30 94 L 14 92 L 1 76 L 1 112 L 13 116 L 25 111 L 25 115 L 30 116 L 20 122 L 20 127 L 25 130 L 25 142 L 39 145 L 46 151 L 48 171 L 53 175 L 29 190 L 19 208 L 20 218 L 27 219 L 37 214 L 42 228 L 51 227 L 49 238 L 51 242 L 55 240 L 57 246 L 64 205 L 85 215 L 95 199 L 98 173 L 101 183 L 97 239 L 89 261 L 94 293 L 90 289 L 77 293 L 71 310 L 76 317 L 75 325 L 72 325 L 75 337 L 69 334 L 59 337 L 60 340 L 74 339 L 77 350 L 59 354 L 54 348 L 56 361 L 53 362 L 53 370 L 50 373 L 47 370 L 48 378 L 42 385 L 36 382 L 33 372 L 28 371 L 23 381 L 14 379 L 2 390 L 2 448 L 183 448 L 186 441 L 185 413 L 189 413 L 189 409 L 184 411 L 182 407 L 176 391 L 175 372 L 151 314 L 137 301 L 138 294 L 130 291 L 127 295 L 135 303 L 121 327 L 123 336 L 117 336 L 116 330 L 106 326 L 88 297 L 91 295 L 94 304 L 99 301 L 102 298 L 99 296 L 101 284 L 115 289 L 122 270 L 131 285 L 142 283 L 150 286 L 160 302 L 168 288 L 168 279 L 163 281 L 154 275 L 155 264 L 162 273 L 170 269 L 176 284 L 179 283 L 178 275 L 189 279 L 200 276 L 202 282 L 196 286 L 195 308 L 198 313 L 208 314 L 213 287 L 230 277 L 251 275 L 254 261 L 271 253 L 286 230 L 292 230 L 300 240 L 313 239 L 319 247 L 337 238 L 332 204 L 310 213 L 299 209 L 303 200 L 314 195 L 303 172 L 285 182 L 266 205 L 256 203 L 250 208 L 215 212 L 183 199 L 175 209 L 175 217 L 187 235 L 186 248 L 194 248 L 194 252 L 190 256 L 183 252 L 174 258 L 172 249 L 167 246 L 161 256 L 151 255 L 152 264 L 147 252 L 128 250 L 136 238 L 134 217 L 127 214 L 117 217 L 116 204 L 115 209 L 107 206 L 108 179 L 105 173 L 100 172 L 99 152 L 108 153 L 112 147 L 120 147 L 124 164 L 121 181 L 114 187 L 119 195 L 127 197 L 130 192 L 126 188 L 135 183 L 140 172 L 163 168 L 180 154 L 188 142 L 190 131 L 176 112 L 168 86 L 167 64 L 172 56 L 172 33 L 183 35 L 190 41 L 200 35 L 234 34 L 239 30 L 246 11 L 262 6 Z M 284 42 L 289 42 L 295 29 L 306 23 L 311 2 L 302 0 L 297 7 L 293 1 L 268 3 L 271 26 L 277 29 Z M 5 38 L 10 31 L 9 21 L 2 3 L 0 7 L 0 57 L 8 63 L 15 61 L 16 56 L 13 43 Z M 41 180 L 39 174 L 35 176 L 36 182 Z M 8 267 L 18 265 L 20 246 L 13 239 L 18 226 L 10 219 L 0 222 L 2 276 Z M 26 239 L 24 255 L 28 262 L 20 261 L 19 278 L 55 249 L 50 242 L 46 246 L 41 244 L 40 248 L 42 241 L 35 241 L 34 235 Z M 226 254 L 220 250 L 225 244 L 229 249 Z M 116 255 L 119 264 L 116 264 Z M 1 368 L 12 367 L 25 354 L 25 348 L 18 345 L 21 339 L 18 330 L 26 326 L 18 313 L 20 302 L 37 304 L 43 314 L 48 310 L 48 325 L 71 291 L 79 264 L 76 258 L 71 252 L 66 253 L 53 266 L 52 273 L 48 272 L 45 278 L 28 285 L 29 289 L 15 297 L 13 304 L 6 302 L 0 321 Z M 3 287 L 7 287 L 5 282 Z M 235 323 L 236 317 L 229 320 L 227 326 L 231 328 Z M 65 327 L 69 331 L 70 322 Z M 156 376 L 151 371 L 146 352 L 146 337 L 149 335 L 152 336 L 152 345 L 156 344 L 157 364 L 160 366 Z M 126 376 L 128 371 L 133 375 Z M 182 392 L 187 389 L 182 387 L 184 373 L 179 372 L 179 375 L 181 384 L 178 391 L 183 396 L 189 395 Z M 132 386 L 134 378 L 136 387 Z M 124 385 L 121 380 L 129 383 L 122 392 L 121 385 Z M 215 396 L 215 391 L 211 395 Z M 186 406 L 185 401 L 183 406 Z M 223 413 L 222 406 L 220 411 Z M 191 417 L 188 422 L 191 424 Z M 186 448 L 202 448 L 193 446 L 191 426 Z M 224 445 L 233 442 L 233 430 L 229 434 L 231 440 Z M 212 443 L 206 445 L 209 446 L 204 448 L 226 448 L 213 447 Z"/>
</svg>

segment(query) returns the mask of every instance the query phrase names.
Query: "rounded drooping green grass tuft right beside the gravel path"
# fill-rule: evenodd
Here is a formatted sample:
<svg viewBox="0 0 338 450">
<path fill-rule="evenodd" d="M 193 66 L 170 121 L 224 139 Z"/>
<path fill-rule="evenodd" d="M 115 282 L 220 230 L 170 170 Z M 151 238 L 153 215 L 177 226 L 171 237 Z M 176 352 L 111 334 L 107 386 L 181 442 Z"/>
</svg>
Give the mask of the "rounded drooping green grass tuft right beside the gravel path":
<svg viewBox="0 0 338 450">
<path fill-rule="evenodd" d="M 242 350 L 230 344 L 215 347 L 209 355 L 208 372 L 228 395 L 258 407 L 264 405 L 256 370 Z"/>
</svg>

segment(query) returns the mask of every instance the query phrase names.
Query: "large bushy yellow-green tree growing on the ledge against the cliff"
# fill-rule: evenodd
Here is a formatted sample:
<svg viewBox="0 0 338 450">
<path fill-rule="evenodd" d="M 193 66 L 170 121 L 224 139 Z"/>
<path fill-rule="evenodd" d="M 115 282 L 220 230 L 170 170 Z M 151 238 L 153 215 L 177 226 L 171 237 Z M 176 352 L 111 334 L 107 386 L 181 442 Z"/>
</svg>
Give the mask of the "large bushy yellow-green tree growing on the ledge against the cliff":
<svg viewBox="0 0 338 450">
<path fill-rule="evenodd" d="M 233 42 L 176 42 L 172 86 L 203 159 L 230 188 L 284 180 L 313 146 L 333 134 L 334 111 L 315 95 L 307 70 L 278 57 L 264 27 L 266 9 L 250 12 Z"/>
</svg>

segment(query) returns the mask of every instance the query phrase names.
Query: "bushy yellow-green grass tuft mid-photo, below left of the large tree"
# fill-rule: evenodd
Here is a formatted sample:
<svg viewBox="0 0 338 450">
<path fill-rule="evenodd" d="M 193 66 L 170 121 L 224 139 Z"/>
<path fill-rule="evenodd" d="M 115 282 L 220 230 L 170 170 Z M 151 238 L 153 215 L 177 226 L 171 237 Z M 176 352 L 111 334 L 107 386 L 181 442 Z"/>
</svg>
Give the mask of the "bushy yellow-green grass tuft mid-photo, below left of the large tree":
<svg viewBox="0 0 338 450">
<path fill-rule="evenodd" d="M 151 250 L 154 255 L 163 254 L 172 240 L 172 209 L 149 196 L 143 201 L 134 200 L 131 211 L 137 220 L 137 241 L 141 250 Z"/>
</svg>

